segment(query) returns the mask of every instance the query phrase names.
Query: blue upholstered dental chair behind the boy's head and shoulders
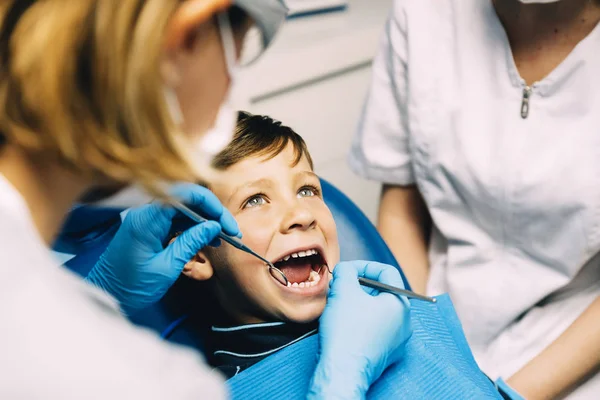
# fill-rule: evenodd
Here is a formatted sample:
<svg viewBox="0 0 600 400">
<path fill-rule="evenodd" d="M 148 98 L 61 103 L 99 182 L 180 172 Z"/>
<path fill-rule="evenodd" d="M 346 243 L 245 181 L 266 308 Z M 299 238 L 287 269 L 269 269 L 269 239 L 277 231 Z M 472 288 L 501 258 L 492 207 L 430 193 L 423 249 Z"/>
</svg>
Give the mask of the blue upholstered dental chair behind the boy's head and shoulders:
<svg viewBox="0 0 600 400">
<path fill-rule="evenodd" d="M 321 184 L 325 202 L 337 224 L 341 260 L 379 261 L 400 270 L 391 251 L 363 212 L 333 185 L 323 179 Z M 86 206 L 74 208 L 53 246 L 57 252 L 74 255 L 64 265 L 81 276 L 87 275 L 119 228 L 122 211 Z M 402 278 L 408 287 L 404 274 Z M 181 312 L 176 306 L 161 301 L 130 316 L 130 319 L 169 336 L 169 340 L 174 342 L 201 347 L 184 328 L 178 329 L 177 334 L 169 335 L 170 327 L 180 317 Z"/>
</svg>

